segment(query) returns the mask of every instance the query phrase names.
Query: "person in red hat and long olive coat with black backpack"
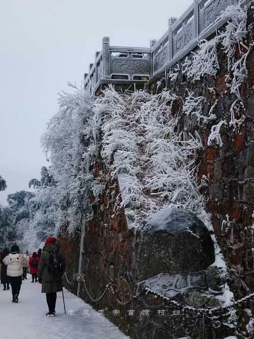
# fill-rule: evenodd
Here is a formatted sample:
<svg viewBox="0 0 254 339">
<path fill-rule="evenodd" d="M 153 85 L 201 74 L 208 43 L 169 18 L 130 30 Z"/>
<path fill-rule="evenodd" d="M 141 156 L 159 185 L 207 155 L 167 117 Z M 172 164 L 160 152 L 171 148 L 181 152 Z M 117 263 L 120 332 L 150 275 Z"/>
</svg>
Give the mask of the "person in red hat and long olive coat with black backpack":
<svg viewBox="0 0 254 339">
<path fill-rule="evenodd" d="M 46 313 L 47 317 L 55 315 L 56 292 L 62 291 L 62 274 L 66 267 L 65 258 L 63 258 L 56 241 L 54 237 L 49 237 L 45 241 L 37 274 L 38 281 L 42 284 L 42 293 L 46 293 L 49 309 L 49 312 Z"/>
</svg>

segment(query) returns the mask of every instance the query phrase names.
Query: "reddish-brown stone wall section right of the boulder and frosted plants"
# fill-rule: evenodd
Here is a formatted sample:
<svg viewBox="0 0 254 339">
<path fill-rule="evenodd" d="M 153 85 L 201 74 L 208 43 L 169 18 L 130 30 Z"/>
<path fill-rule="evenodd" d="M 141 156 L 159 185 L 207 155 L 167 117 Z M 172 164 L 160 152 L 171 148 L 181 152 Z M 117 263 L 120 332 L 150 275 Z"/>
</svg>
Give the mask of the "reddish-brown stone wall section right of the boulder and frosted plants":
<svg viewBox="0 0 254 339">
<path fill-rule="evenodd" d="M 249 13 L 248 24 L 253 27 L 251 22 Z M 252 41 L 253 36 L 249 33 L 247 42 L 250 44 Z M 229 115 L 235 96 L 227 87 L 227 55 L 221 46 L 217 51 L 220 68 L 216 78 L 207 76 L 201 81 L 188 82 L 180 70 L 175 82 L 171 82 L 170 78 L 167 79 L 167 86 L 165 76 L 154 79 L 150 84 L 153 93 L 168 87 L 172 93 L 181 98 L 178 105 L 173 107 L 174 114 L 181 115 L 178 130 L 193 135 L 197 131 L 201 135 L 204 149 L 197 159 L 200 164 L 198 175 L 200 179 L 205 176 L 207 182 L 202 193 L 207 197 L 207 211 L 212 214 L 216 238 L 229 264 L 231 288 L 238 297 L 252 292 L 254 288 L 252 254 L 254 244 L 251 232 L 254 203 L 254 50 L 253 47 L 250 48 L 246 63 L 248 76 L 240 88 L 240 95 L 244 98 L 245 104 L 240 114 L 243 114 L 245 119 L 237 132 L 230 128 L 221 129 L 223 141 L 221 147 L 217 144 L 208 146 L 212 125 L 202 126 L 198 124 L 195 115 L 189 117 L 181 114 L 187 91 L 195 91 L 197 97 L 203 96 L 209 103 L 209 88 L 214 87 L 217 104 L 213 112 L 216 115 L 213 125 L 223 120 L 225 115 Z M 238 50 L 236 55 L 239 55 Z M 160 86 L 157 86 L 158 80 L 161 80 Z M 209 107 L 211 107 L 209 104 L 207 106 L 205 104 L 204 115 L 207 114 Z M 236 115 L 236 118 L 239 116 Z"/>
</svg>

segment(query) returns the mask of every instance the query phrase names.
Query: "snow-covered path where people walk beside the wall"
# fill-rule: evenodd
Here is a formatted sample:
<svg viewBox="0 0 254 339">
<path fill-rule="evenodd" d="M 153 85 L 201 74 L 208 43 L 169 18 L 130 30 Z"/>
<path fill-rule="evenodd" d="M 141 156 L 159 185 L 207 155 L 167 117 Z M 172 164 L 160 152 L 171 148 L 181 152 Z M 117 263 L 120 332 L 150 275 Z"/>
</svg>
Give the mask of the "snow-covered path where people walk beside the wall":
<svg viewBox="0 0 254 339">
<path fill-rule="evenodd" d="M 64 290 L 65 314 L 61 292 L 57 293 L 56 316 L 45 316 L 46 295 L 41 293 L 39 283 L 31 284 L 30 275 L 23 281 L 19 302 L 13 303 L 11 290 L 3 291 L 0 285 L 0 336 L 5 339 L 122 339 L 129 338 L 107 318 L 74 294 Z M 85 312 L 84 312 L 85 310 Z M 87 314 L 88 311 L 88 315 Z M 84 314 L 84 315 L 83 315 Z"/>
</svg>

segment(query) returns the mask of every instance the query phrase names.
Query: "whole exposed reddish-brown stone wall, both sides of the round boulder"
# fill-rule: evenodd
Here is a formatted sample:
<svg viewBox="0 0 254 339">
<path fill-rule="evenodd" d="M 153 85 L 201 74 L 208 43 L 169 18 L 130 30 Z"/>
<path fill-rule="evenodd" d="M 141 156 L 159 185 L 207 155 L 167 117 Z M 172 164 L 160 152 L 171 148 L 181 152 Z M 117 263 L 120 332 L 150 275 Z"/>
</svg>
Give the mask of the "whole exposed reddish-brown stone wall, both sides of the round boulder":
<svg viewBox="0 0 254 339">
<path fill-rule="evenodd" d="M 249 21 L 251 15 L 252 13 L 249 13 Z M 251 41 L 250 32 L 248 43 Z M 228 284 L 235 297 L 240 298 L 253 291 L 254 280 L 251 233 L 254 202 L 253 49 L 247 59 L 248 78 L 241 87 L 241 95 L 245 98 L 246 118 L 240 131 L 234 133 L 225 128 L 221 130 L 223 145 L 208 146 L 211 126 L 200 126 L 194 116 L 190 118 L 181 114 L 187 90 L 195 91 L 197 96 L 202 95 L 209 102 L 209 87 L 215 87 L 218 100 L 214 111 L 216 122 L 223 119 L 225 112 L 229 112 L 235 98 L 227 91 L 225 82 L 228 71 L 227 56 L 220 47 L 218 53 L 220 69 L 216 78 L 205 77 L 195 83 L 188 82 L 180 69 L 175 82 L 171 82 L 170 78 L 165 79 L 165 75 L 162 75 L 150 82 L 149 90 L 158 93 L 167 87 L 176 94 L 180 100 L 174 103 L 173 111 L 174 114 L 181 115 L 178 131 L 185 130 L 192 134 L 198 131 L 202 136 L 204 148 L 197 159 L 198 175 L 200 179 L 205 176 L 207 182 L 202 193 L 207 197 L 207 211 L 212 214 L 214 232 L 228 263 Z M 204 110 L 208 109 L 208 106 L 204 107 Z M 99 176 L 100 171 L 107 176 L 107 168 L 99 155 L 94 165 L 95 176 Z M 108 288 L 98 302 L 93 302 L 88 297 L 85 285 L 80 283 L 79 296 L 91 303 L 95 309 L 104 310 L 104 314 L 131 338 L 173 339 L 188 335 L 195 339 L 209 339 L 235 334 L 235 329 L 223 324 L 224 315 L 221 312 L 210 316 L 192 310 L 183 311 L 153 293 L 142 292 L 133 299 L 138 288 L 137 237 L 135 230 L 128 229 L 126 225 L 124 211 L 119 207 L 119 199 L 118 182 L 108 179 L 99 201 L 94 197 L 91 200 L 94 217 L 84 230 L 82 273 L 85 274 L 86 288 L 93 299 L 103 294 L 108 283 L 112 284 L 112 289 Z M 66 226 L 63 227 L 60 245 L 67 257 L 68 278 L 72 280 L 79 266 L 80 230 L 74 237 L 70 237 L 66 233 Z M 71 285 L 66 282 L 65 286 L 77 293 L 76 281 Z M 123 304 L 119 304 L 117 299 Z M 248 301 L 237 311 L 240 319 L 238 331 L 242 333 L 246 331 L 245 322 L 248 321 L 244 307 L 252 307 L 253 311 L 253 304 Z M 147 309 L 150 314 L 142 314 Z M 114 310 L 119 310 L 119 315 L 114 315 Z M 135 311 L 133 316 L 129 310 Z M 165 310 L 165 317 L 158 313 L 160 310 Z M 243 339 L 242 333 L 239 333 L 238 337 Z"/>
</svg>

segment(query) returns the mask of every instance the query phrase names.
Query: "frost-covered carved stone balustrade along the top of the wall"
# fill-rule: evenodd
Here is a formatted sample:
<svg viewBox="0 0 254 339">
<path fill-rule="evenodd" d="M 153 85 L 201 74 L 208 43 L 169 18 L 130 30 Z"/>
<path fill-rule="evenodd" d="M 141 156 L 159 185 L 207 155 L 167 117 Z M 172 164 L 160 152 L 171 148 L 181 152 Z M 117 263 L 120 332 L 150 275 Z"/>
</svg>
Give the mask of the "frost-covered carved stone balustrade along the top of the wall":
<svg viewBox="0 0 254 339">
<path fill-rule="evenodd" d="M 157 41 L 150 40 L 149 48 L 110 46 L 104 37 L 102 50 L 96 52 L 89 73 L 84 74 L 84 87 L 95 94 L 101 84 L 145 83 L 150 78 L 174 66 L 223 26 L 228 17 L 221 14 L 228 6 L 251 0 L 194 0 L 179 18 L 170 17 L 167 32 Z M 233 23 L 234 24 L 234 23 Z M 212 48 L 208 43 L 207 48 Z M 236 83 L 236 88 L 238 83 Z"/>
</svg>

